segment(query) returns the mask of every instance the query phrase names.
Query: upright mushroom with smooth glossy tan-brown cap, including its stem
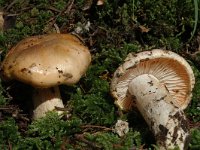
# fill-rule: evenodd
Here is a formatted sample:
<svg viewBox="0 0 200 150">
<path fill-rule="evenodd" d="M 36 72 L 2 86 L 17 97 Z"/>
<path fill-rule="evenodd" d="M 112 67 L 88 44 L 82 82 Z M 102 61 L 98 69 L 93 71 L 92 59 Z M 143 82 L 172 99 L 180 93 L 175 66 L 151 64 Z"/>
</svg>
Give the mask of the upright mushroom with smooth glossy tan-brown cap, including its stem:
<svg viewBox="0 0 200 150">
<path fill-rule="evenodd" d="M 90 62 L 88 48 L 75 36 L 47 34 L 14 46 L 1 64 L 1 73 L 4 79 L 34 87 L 33 118 L 38 119 L 55 107 L 64 107 L 58 85 L 77 83 Z"/>
</svg>

